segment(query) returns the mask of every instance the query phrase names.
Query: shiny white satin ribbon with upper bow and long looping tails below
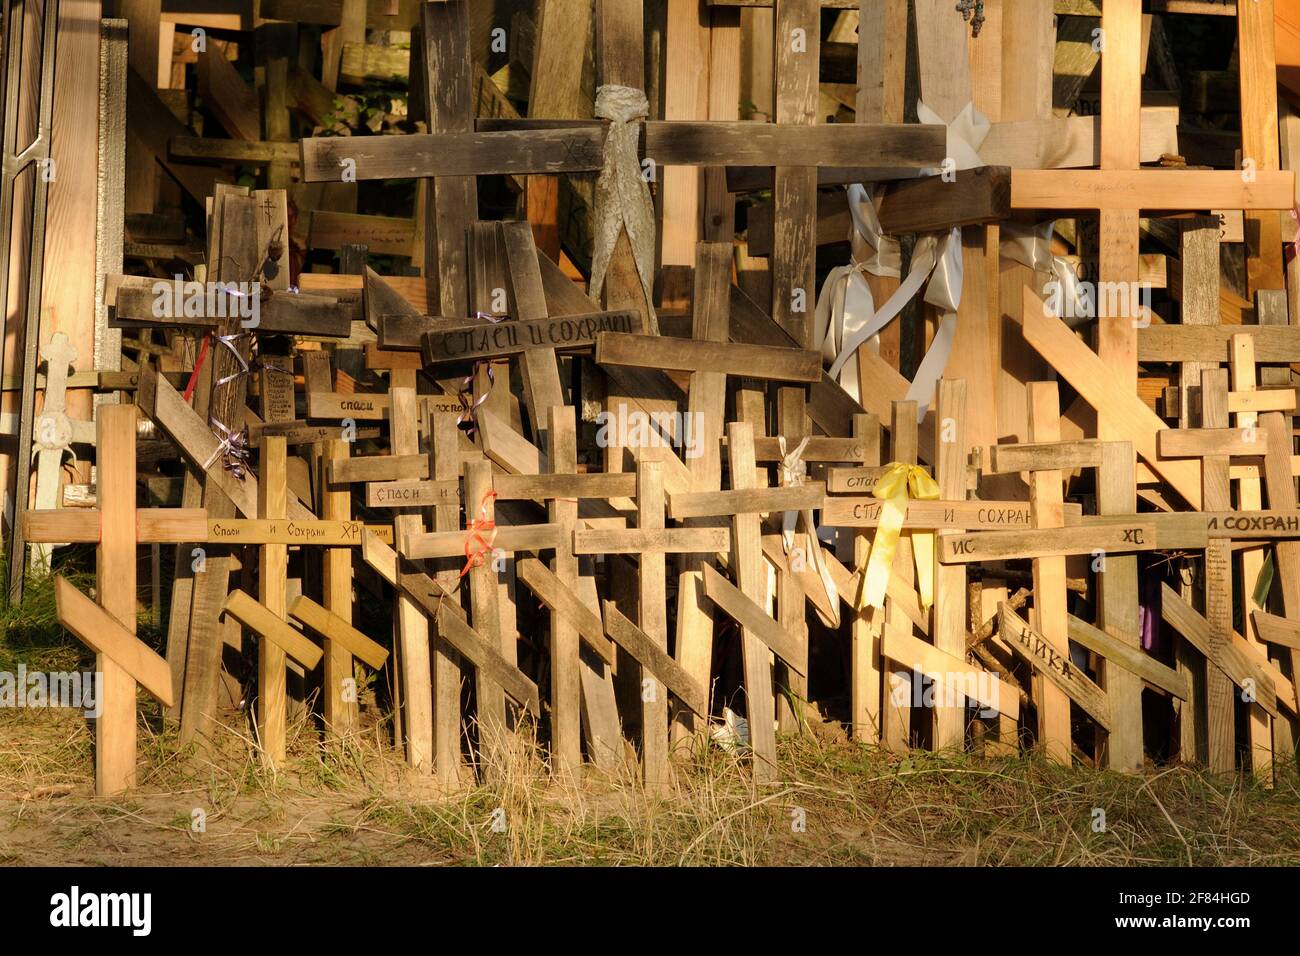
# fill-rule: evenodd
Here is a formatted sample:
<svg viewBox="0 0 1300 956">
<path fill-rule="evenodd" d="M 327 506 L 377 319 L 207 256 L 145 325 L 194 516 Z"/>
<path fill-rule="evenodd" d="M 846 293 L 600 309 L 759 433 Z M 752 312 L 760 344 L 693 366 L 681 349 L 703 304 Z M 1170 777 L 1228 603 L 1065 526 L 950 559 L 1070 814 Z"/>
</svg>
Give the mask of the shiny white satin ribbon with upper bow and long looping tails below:
<svg viewBox="0 0 1300 956">
<path fill-rule="evenodd" d="M 916 103 L 916 116 L 924 124 L 944 125 L 948 130 L 948 159 L 952 169 L 974 169 L 984 165 L 979 148 L 988 137 L 988 118 L 967 103 L 966 108 L 950 124 L 930 109 L 924 103 Z M 942 168 L 928 168 L 922 176 L 942 174 Z M 916 402 L 918 421 L 926 418 L 933 402 L 939 380 L 948 367 L 953 339 L 957 337 L 957 308 L 962 299 L 962 238 L 961 228 L 953 228 L 946 234 L 927 234 L 916 241 L 911 256 L 911 268 L 898 289 L 880 307 L 875 308 L 871 289 L 863 278 L 863 271 L 876 276 L 898 276 L 900 260 L 896 241 L 884 237 L 880 219 L 864 187 L 849 187 L 849 211 L 853 216 L 854 261 L 852 265 L 832 269 L 822 286 L 822 298 L 816 310 L 816 338 L 822 342 L 822 354 L 831 360 L 829 375 L 855 399 L 861 401 L 858 369 L 849 359 L 863 343 L 878 336 L 904 307 L 926 286 L 924 302 L 942 310 L 939 330 L 930 350 L 916 368 L 916 376 L 907 389 L 907 401 Z M 859 247 L 867 247 L 870 255 L 859 255 Z M 892 271 L 890 271 L 892 269 Z"/>
</svg>

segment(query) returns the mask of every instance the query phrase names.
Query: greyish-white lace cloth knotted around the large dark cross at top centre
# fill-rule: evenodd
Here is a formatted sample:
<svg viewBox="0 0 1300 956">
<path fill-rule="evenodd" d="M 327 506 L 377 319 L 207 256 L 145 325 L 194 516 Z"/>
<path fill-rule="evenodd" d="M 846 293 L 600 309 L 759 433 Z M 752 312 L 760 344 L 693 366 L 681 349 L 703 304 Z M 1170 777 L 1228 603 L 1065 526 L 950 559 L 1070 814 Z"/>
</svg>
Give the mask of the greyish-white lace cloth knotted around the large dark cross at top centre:
<svg viewBox="0 0 1300 956">
<path fill-rule="evenodd" d="M 646 297 L 651 323 L 654 316 L 654 203 L 650 187 L 641 177 L 637 148 L 641 126 L 649 116 L 646 95 L 630 86 L 602 86 L 595 91 L 595 114 L 610 121 L 604 137 L 604 165 L 595 182 L 595 251 L 592 258 L 592 298 L 599 299 L 604 273 L 610 268 L 620 229 L 628 230 L 632 258 Z"/>
</svg>

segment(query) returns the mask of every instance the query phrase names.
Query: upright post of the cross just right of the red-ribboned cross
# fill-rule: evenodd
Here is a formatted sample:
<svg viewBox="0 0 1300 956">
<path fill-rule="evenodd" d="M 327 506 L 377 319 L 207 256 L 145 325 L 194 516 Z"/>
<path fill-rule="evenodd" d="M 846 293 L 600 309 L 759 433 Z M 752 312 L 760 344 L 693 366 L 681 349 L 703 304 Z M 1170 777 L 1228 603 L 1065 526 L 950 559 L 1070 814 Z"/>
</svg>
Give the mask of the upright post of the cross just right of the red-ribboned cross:
<svg viewBox="0 0 1300 956">
<path fill-rule="evenodd" d="M 577 423 L 572 406 L 551 406 L 547 459 L 552 473 L 577 472 Z M 660 510 L 662 511 L 662 510 Z M 552 498 L 547 503 L 552 524 L 560 525 L 560 545 L 551 570 L 568 588 L 577 591 L 577 558 L 573 555 L 573 528 L 577 499 Z M 660 578 L 663 571 L 660 568 Z M 555 773 L 577 777 L 582 766 L 582 710 L 578 676 L 577 628 L 551 611 L 551 760 Z"/>
</svg>

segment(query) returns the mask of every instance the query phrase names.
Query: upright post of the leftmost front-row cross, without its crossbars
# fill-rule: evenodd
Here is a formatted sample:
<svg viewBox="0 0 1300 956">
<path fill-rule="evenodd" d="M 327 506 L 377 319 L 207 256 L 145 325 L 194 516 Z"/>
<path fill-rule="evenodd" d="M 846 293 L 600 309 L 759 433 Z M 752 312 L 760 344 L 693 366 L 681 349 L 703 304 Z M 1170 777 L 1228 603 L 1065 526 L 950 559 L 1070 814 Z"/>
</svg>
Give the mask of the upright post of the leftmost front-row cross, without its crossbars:
<svg viewBox="0 0 1300 956">
<path fill-rule="evenodd" d="M 99 410 L 100 532 L 95 553 L 95 597 L 100 607 L 135 633 L 135 406 Z M 103 713 L 95 731 L 95 792 L 135 786 L 135 679 L 108 654 L 95 656 L 104 675 Z"/>
</svg>

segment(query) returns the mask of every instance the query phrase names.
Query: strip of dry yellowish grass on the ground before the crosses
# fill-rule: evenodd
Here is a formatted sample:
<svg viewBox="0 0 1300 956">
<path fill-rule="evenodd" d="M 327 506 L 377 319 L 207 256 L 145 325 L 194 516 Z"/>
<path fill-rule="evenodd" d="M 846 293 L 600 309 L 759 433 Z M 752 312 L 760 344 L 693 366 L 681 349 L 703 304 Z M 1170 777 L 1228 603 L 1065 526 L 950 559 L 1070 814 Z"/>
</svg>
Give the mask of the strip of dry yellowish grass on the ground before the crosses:
<svg viewBox="0 0 1300 956">
<path fill-rule="evenodd" d="M 551 779 L 526 726 L 486 782 L 412 779 L 372 723 L 321 744 L 292 726 L 263 766 L 233 717 L 211 747 L 140 728 L 140 787 L 92 796 L 91 737 L 66 711 L 0 713 L 0 861 L 18 864 L 1269 865 L 1300 862 L 1294 777 L 1268 791 L 1186 767 L 1141 777 L 1036 758 L 907 757 L 807 735 L 755 792 L 715 747 L 670 792 L 630 767 Z M 467 774 L 468 777 L 468 774 Z M 191 830 L 202 809 L 205 831 Z M 1095 831 L 1095 810 L 1105 830 Z M 798 822 L 803 827 L 797 826 Z"/>
</svg>

